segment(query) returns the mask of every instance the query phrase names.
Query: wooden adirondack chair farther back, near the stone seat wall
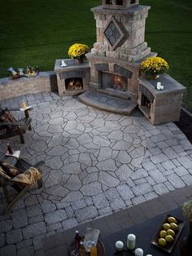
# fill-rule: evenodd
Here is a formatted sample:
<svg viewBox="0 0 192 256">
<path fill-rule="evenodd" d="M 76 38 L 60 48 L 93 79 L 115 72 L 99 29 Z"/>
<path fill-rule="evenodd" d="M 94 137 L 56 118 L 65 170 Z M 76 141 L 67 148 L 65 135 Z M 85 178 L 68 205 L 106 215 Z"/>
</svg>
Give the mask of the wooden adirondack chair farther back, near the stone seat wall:
<svg viewBox="0 0 192 256">
<path fill-rule="evenodd" d="M 28 110 L 31 109 L 33 108 L 24 110 L 25 117 L 20 121 L 17 121 L 10 113 L 10 111 L 20 111 L 19 108 L 0 109 L 0 139 L 7 139 L 19 135 L 20 143 L 24 143 L 24 133 L 26 130 L 32 130 L 32 119 L 28 115 Z"/>
</svg>

